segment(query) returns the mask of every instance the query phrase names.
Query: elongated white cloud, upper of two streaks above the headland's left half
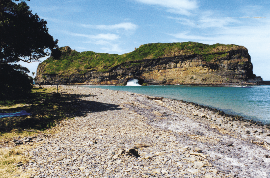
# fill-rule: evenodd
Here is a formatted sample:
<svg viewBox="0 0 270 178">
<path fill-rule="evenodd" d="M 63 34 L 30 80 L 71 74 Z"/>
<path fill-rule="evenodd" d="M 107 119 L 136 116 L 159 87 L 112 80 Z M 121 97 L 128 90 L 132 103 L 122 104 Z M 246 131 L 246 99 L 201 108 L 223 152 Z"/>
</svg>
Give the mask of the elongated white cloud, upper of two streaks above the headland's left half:
<svg viewBox="0 0 270 178">
<path fill-rule="evenodd" d="M 100 29 L 100 30 L 118 30 L 118 29 L 124 29 L 124 30 L 135 30 L 138 26 L 130 23 L 130 22 L 124 22 L 124 23 L 118 23 L 115 25 L 86 25 L 81 24 L 81 26 L 86 28 L 93 28 L 93 29 Z"/>
</svg>

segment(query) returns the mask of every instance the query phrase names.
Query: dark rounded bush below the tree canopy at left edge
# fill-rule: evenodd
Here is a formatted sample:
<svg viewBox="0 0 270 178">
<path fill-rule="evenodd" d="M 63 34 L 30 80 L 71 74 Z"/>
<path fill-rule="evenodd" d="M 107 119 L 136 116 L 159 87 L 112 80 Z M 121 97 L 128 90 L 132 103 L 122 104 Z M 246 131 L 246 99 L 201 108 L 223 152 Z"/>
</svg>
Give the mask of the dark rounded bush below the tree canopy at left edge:
<svg viewBox="0 0 270 178">
<path fill-rule="evenodd" d="M 26 69 L 20 65 L 0 63 L 0 100 L 25 97 L 31 92 L 32 81 Z"/>
</svg>

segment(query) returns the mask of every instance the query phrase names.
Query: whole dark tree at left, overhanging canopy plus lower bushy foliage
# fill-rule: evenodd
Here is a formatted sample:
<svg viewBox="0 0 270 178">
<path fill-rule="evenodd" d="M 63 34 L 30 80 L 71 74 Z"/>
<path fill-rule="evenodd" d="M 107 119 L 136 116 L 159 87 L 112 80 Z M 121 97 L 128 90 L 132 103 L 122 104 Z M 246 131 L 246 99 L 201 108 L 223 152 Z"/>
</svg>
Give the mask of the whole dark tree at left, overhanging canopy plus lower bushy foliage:
<svg viewBox="0 0 270 178">
<path fill-rule="evenodd" d="M 25 1 L 0 0 L 0 99 L 31 91 L 30 71 L 14 63 L 39 61 L 58 51 L 58 40 L 49 35 L 46 24 Z"/>
</svg>

